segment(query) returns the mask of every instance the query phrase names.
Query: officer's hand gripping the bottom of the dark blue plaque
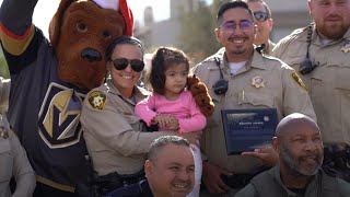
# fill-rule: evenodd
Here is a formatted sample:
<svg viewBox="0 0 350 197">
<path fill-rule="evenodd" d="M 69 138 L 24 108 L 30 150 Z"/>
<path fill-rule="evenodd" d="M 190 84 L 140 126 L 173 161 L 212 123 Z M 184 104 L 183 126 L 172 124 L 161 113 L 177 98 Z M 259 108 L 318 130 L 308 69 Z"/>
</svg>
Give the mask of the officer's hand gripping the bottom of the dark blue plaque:
<svg viewBox="0 0 350 197">
<path fill-rule="evenodd" d="M 250 155 L 259 159 L 265 166 L 275 166 L 278 163 L 279 157 L 273 148 L 259 148 L 254 152 L 243 152 L 243 155 Z"/>
</svg>

